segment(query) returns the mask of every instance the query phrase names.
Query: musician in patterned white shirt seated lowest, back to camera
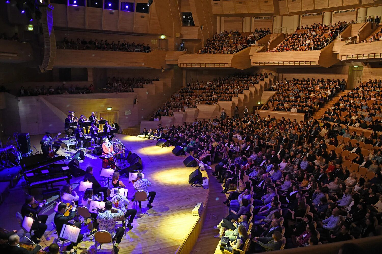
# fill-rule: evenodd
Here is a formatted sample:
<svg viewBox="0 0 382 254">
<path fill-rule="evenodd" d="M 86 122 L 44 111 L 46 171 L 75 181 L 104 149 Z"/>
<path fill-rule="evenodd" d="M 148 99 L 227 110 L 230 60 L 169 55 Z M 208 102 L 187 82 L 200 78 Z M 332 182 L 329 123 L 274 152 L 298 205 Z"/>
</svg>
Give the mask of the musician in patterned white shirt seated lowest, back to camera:
<svg viewBox="0 0 382 254">
<path fill-rule="evenodd" d="M 111 210 L 117 212 L 111 212 Z M 120 209 L 113 208 L 113 203 L 107 201 L 105 203 L 105 212 L 101 212 L 97 216 L 97 222 L 99 223 L 100 230 L 106 230 L 112 235 L 112 238 L 116 240 L 116 244 L 113 247 L 114 253 L 118 254 L 118 245 L 121 243 L 125 228 L 119 227 L 115 229 L 115 221 L 123 216 L 124 212 Z"/>
</svg>

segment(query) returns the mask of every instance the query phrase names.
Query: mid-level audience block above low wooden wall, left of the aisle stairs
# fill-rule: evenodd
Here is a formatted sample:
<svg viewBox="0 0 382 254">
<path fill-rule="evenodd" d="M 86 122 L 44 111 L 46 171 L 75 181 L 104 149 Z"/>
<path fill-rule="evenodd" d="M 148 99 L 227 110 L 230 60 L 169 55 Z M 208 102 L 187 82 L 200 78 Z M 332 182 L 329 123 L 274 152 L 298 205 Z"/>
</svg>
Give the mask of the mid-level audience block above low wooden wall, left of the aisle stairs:
<svg viewBox="0 0 382 254">
<path fill-rule="evenodd" d="M 264 110 L 305 113 L 309 117 L 340 91 L 340 80 L 283 79 L 270 87 L 277 93 L 264 105 Z"/>
</svg>

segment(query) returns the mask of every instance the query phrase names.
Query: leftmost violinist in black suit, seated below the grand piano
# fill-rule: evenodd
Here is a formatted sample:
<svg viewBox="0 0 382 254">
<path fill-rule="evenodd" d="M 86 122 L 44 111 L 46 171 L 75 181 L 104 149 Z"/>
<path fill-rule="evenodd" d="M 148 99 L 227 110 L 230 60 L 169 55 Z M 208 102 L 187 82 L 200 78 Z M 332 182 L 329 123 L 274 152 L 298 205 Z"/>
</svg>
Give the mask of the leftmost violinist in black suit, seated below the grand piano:
<svg viewBox="0 0 382 254">
<path fill-rule="evenodd" d="M 41 202 L 38 206 L 32 207 L 36 202 L 34 200 L 34 196 L 28 196 L 25 199 L 25 203 L 21 207 L 21 215 L 23 218 L 25 216 L 32 217 L 34 219 L 32 230 L 34 230 L 34 235 L 32 236 L 32 241 L 35 243 L 40 242 L 40 238 L 44 235 L 45 230 L 47 230 L 48 226 L 45 224 L 48 219 L 48 215 L 39 214 L 42 210 L 43 202 Z M 39 239 L 37 239 L 39 238 Z"/>
</svg>

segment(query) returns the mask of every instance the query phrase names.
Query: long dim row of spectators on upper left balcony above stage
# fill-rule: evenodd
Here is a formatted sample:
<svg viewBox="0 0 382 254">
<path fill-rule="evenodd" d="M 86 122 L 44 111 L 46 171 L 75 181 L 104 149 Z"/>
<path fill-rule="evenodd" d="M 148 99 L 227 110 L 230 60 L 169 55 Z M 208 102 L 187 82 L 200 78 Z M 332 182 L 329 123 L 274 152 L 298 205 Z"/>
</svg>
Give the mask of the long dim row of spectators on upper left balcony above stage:
<svg viewBox="0 0 382 254">
<path fill-rule="evenodd" d="M 98 41 L 95 39 L 94 41 L 91 39 L 86 41 L 85 39 L 80 40 L 77 39 L 75 42 L 73 39 L 68 40 L 68 38 L 64 38 L 62 42 L 57 43 L 57 49 L 86 49 L 86 50 L 105 50 L 105 51 L 122 51 L 122 52 L 150 52 L 150 45 L 135 44 L 135 42 L 129 44 L 126 40 L 123 40 L 121 43 L 118 41 L 117 43 L 112 42 L 109 43 L 108 40 Z"/>
</svg>

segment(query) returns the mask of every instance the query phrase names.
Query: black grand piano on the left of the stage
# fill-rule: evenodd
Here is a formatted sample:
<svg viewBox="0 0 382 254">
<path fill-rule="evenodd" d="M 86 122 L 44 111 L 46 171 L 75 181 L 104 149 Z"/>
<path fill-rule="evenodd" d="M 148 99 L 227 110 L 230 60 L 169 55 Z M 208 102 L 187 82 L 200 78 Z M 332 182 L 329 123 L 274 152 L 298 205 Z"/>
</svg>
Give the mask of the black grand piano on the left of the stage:
<svg viewBox="0 0 382 254">
<path fill-rule="evenodd" d="M 24 173 L 24 179 L 28 184 L 28 189 L 43 186 L 48 189 L 49 184 L 50 188 L 53 188 L 53 183 L 62 180 L 69 183 L 71 174 L 64 163 L 65 159 L 66 157 L 63 155 L 49 158 L 44 154 L 23 157 L 20 160 L 20 165 Z"/>
</svg>

